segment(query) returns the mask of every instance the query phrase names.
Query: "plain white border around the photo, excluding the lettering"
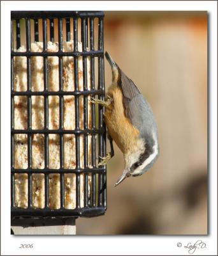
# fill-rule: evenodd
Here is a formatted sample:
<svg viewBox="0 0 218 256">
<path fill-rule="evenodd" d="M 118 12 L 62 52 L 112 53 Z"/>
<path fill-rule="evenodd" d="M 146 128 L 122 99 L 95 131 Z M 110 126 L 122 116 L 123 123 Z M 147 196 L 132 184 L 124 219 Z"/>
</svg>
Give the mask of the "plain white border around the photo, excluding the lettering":
<svg viewBox="0 0 218 256">
<path fill-rule="evenodd" d="M 10 235 L 10 12 L 11 10 L 208 11 L 210 175 L 208 236 L 11 236 Z M 6 96 L 5 96 L 6 95 Z M 217 1 L 1 1 L 1 255 L 190 255 L 177 243 L 201 239 L 193 255 L 217 255 Z M 98 241 L 98 244 L 97 244 Z M 33 249 L 19 249 L 34 243 Z M 93 246 L 94 244 L 94 246 Z M 85 245 L 85 246 L 84 246 Z"/>
</svg>

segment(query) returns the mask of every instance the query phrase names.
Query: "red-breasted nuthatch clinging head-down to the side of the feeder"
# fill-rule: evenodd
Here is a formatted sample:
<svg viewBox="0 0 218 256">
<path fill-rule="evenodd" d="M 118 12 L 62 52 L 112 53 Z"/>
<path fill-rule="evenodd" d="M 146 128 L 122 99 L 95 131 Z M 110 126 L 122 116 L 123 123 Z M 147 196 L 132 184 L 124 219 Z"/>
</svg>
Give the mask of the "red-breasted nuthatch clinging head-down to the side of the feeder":
<svg viewBox="0 0 218 256">
<path fill-rule="evenodd" d="M 108 52 L 105 57 L 112 68 L 112 84 L 107 100 L 92 99 L 94 104 L 105 106 L 105 123 L 108 129 L 111 153 L 99 165 L 113 157 L 114 140 L 124 154 L 125 169 L 115 186 L 126 177 L 142 175 L 153 166 L 159 155 L 157 124 L 149 103 L 138 87 L 119 68 Z"/>
</svg>

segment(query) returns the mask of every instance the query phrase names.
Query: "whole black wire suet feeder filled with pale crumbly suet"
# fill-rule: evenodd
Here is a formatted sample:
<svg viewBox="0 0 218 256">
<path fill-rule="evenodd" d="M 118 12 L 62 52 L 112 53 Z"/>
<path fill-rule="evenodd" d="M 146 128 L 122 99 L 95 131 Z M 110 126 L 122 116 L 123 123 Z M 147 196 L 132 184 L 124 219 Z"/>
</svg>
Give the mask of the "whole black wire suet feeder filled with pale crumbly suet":
<svg viewBox="0 0 218 256">
<path fill-rule="evenodd" d="M 11 218 L 105 214 L 103 18 L 11 12 Z"/>
</svg>

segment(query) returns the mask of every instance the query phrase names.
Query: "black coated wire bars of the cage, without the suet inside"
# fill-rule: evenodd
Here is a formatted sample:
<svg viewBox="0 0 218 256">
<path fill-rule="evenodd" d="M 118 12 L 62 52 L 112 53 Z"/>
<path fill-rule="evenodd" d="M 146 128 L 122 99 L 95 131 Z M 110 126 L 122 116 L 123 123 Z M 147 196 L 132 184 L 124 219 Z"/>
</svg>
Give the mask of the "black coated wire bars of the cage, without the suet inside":
<svg viewBox="0 0 218 256">
<path fill-rule="evenodd" d="M 65 15 L 63 15 L 63 13 Z M 70 13 L 70 15 L 69 15 Z M 11 216 L 98 216 L 104 214 L 106 209 L 106 193 L 105 193 L 105 175 L 106 166 L 96 168 L 96 134 L 99 135 L 99 154 L 105 156 L 105 125 L 103 124 L 103 108 L 99 108 L 99 127 L 96 128 L 95 106 L 91 105 L 92 122 L 89 127 L 88 118 L 88 97 L 89 95 L 98 95 L 99 99 L 104 99 L 104 76 L 103 76 L 103 12 L 11 12 Z M 98 51 L 94 51 L 94 18 L 99 17 L 99 42 Z M 15 52 L 13 50 L 13 19 L 16 20 L 16 39 L 17 49 L 20 47 L 20 20 L 25 18 L 26 29 L 26 52 Z M 73 18 L 73 52 L 62 51 L 62 18 L 66 19 L 66 40 L 71 40 L 70 23 Z M 34 40 L 39 40 L 39 20 L 42 19 L 43 26 L 43 52 L 31 52 L 31 28 L 30 19 L 34 20 Z M 58 19 L 58 52 L 47 52 L 47 19 L 50 20 L 50 40 L 54 42 L 54 19 Z M 78 51 L 78 19 L 81 19 L 81 37 L 82 37 L 82 52 Z M 90 40 L 88 40 L 88 33 Z M 89 50 L 87 47 L 89 46 Z M 15 56 L 25 56 L 27 58 L 27 91 L 15 92 L 13 88 L 13 58 Z M 43 76 L 44 76 L 44 90 L 43 92 L 31 91 L 31 56 L 43 57 Z M 59 91 L 49 92 L 48 88 L 48 61 L 49 56 L 57 56 L 59 58 Z M 63 56 L 73 56 L 74 59 L 74 77 L 75 77 L 75 91 L 63 91 Z M 82 56 L 83 63 L 83 90 L 78 90 L 78 58 Z M 87 88 L 87 57 L 89 57 L 91 65 L 91 90 Z M 98 89 L 95 88 L 94 79 L 94 58 L 98 58 Z M 31 125 L 31 96 L 38 95 L 44 97 L 44 128 L 32 129 Z M 51 130 L 48 127 L 48 96 L 59 96 L 59 129 Z M 75 130 L 64 130 L 63 127 L 63 107 L 64 95 L 73 95 L 75 97 Z M 27 129 L 14 129 L 14 113 L 13 113 L 13 97 L 25 96 L 27 97 Z M 82 98 L 83 97 L 83 98 Z M 80 100 L 84 99 L 84 125 L 80 127 Z M 32 168 L 32 136 L 33 134 L 44 134 L 45 136 L 45 168 Z M 14 134 L 27 134 L 27 153 L 28 153 L 28 168 L 15 169 L 14 166 Z M 60 168 L 49 168 L 49 150 L 48 150 L 48 135 L 59 134 L 60 138 Z M 64 169 L 64 134 L 75 134 L 76 143 L 76 168 Z M 88 157 L 88 136 L 91 135 L 91 164 L 89 168 Z M 81 168 L 80 163 L 80 136 L 84 136 L 84 166 Z M 28 175 L 28 208 L 19 209 L 15 205 L 15 173 L 27 173 Z M 45 208 L 33 209 L 32 207 L 32 175 L 33 173 L 42 173 L 45 175 Z M 50 209 L 49 207 L 49 175 L 60 175 L 61 184 L 61 208 Z M 76 175 L 76 208 L 64 209 L 64 175 L 65 173 L 75 173 Z M 80 202 L 80 182 L 81 174 L 84 174 L 84 206 L 81 207 Z M 90 176 L 91 175 L 91 176 Z M 98 184 L 96 184 L 96 175 L 98 175 Z M 89 176 L 91 177 L 91 187 L 89 189 Z M 98 188 L 96 187 L 98 186 Z M 90 191 L 90 197 L 89 197 Z M 98 191 L 98 204 L 96 204 L 96 191 Z"/>
</svg>

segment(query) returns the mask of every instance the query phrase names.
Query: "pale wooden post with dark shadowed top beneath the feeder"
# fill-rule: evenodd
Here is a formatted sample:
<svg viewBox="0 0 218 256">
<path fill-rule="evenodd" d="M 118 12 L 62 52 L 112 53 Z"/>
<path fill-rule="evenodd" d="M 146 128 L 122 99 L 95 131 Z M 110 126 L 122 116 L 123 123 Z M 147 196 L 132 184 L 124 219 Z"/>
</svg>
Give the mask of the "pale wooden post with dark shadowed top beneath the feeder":
<svg viewBox="0 0 218 256">
<path fill-rule="evenodd" d="M 11 220 L 14 235 L 75 235 L 75 218 L 15 218 Z"/>
</svg>

